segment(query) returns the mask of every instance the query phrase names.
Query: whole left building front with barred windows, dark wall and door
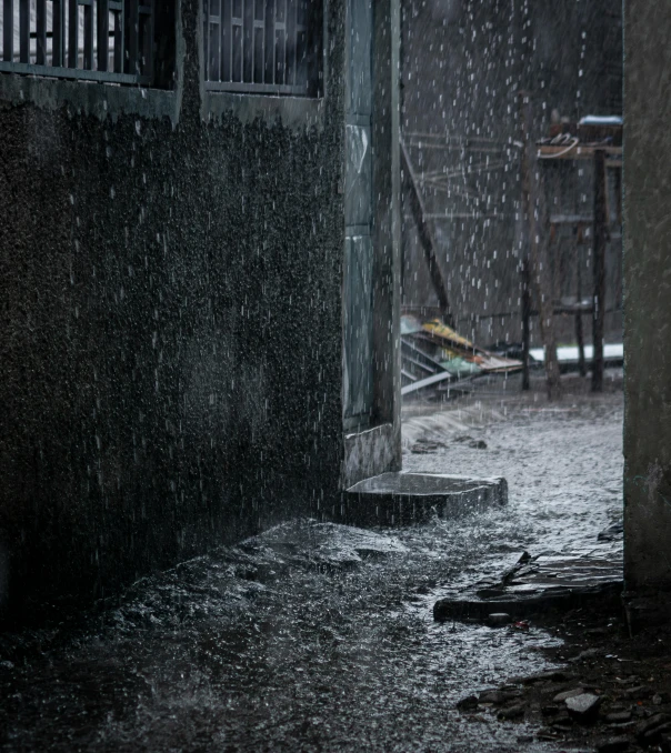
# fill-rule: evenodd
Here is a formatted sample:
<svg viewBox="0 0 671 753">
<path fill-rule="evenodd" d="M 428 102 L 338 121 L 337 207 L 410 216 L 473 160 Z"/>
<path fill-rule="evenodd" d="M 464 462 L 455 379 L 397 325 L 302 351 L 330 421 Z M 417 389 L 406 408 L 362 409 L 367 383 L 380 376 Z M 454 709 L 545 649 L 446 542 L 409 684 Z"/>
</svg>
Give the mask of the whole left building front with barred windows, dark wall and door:
<svg viewBox="0 0 671 753">
<path fill-rule="evenodd" d="M 19 613 L 338 515 L 400 466 L 399 9 L 14 4 L 0 598 Z"/>
</svg>

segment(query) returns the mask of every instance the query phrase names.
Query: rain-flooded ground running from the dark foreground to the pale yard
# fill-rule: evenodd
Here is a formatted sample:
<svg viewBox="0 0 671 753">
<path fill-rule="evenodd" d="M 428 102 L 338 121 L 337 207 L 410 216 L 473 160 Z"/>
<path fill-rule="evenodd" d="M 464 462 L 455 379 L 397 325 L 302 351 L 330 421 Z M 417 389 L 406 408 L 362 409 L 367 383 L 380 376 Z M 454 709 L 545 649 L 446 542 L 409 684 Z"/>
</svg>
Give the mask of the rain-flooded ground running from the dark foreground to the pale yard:
<svg viewBox="0 0 671 753">
<path fill-rule="evenodd" d="M 547 669 L 551 630 L 439 624 L 431 610 L 525 550 L 621 546 L 597 539 L 621 516 L 621 394 L 548 406 L 484 392 L 438 419 L 411 406 L 404 463 L 504 475 L 507 509 L 379 535 L 288 524 L 77 625 L 2 636 L 0 750 L 567 750 L 455 710 Z"/>
</svg>

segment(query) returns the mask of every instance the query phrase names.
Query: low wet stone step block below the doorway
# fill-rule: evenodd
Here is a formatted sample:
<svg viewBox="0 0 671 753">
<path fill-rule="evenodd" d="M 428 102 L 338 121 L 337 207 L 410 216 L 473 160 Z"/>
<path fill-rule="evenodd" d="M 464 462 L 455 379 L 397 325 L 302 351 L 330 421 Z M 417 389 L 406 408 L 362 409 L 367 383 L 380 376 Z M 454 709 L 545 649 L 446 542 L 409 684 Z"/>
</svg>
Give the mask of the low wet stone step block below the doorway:
<svg viewBox="0 0 671 753">
<path fill-rule="evenodd" d="M 343 518 L 352 525 L 408 525 L 433 516 L 459 518 L 507 504 L 505 479 L 442 473 L 382 473 L 344 493 Z"/>
</svg>

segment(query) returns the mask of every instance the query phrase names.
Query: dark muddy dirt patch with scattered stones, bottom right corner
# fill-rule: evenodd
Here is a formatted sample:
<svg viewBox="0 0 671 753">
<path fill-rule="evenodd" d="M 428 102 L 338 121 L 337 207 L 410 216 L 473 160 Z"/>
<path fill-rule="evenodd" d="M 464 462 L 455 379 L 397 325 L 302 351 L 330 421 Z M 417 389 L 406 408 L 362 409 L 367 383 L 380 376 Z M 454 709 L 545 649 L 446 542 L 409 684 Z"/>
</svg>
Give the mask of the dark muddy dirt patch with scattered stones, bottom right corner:
<svg viewBox="0 0 671 753">
<path fill-rule="evenodd" d="M 598 605 L 547 624 L 563 642 L 544 650 L 557 669 L 513 679 L 495 689 L 502 693 L 483 695 L 484 704 L 463 713 L 517 717 L 535 727 L 537 740 L 554 740 L 567 750 L 671 751 L 671 631 L 650 628 L 631 636 L 621 611 Z M 567 694 L 598 700 L 581 715 L 567 706 Z"/>
</svg>

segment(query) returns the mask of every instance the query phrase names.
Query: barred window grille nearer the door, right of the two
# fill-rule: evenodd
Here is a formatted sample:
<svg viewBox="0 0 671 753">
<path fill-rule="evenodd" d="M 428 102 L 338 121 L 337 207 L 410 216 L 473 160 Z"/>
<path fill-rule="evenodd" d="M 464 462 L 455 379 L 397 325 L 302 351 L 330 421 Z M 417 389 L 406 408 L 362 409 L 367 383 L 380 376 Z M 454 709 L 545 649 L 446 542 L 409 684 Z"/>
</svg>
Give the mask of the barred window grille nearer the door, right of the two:
<svg viewBox="0 0 671 753">
<path fill-rule="evenodd" d="M 206 89 L 320 97 L 321 0 L 203 0 Z"/>
</svg>

